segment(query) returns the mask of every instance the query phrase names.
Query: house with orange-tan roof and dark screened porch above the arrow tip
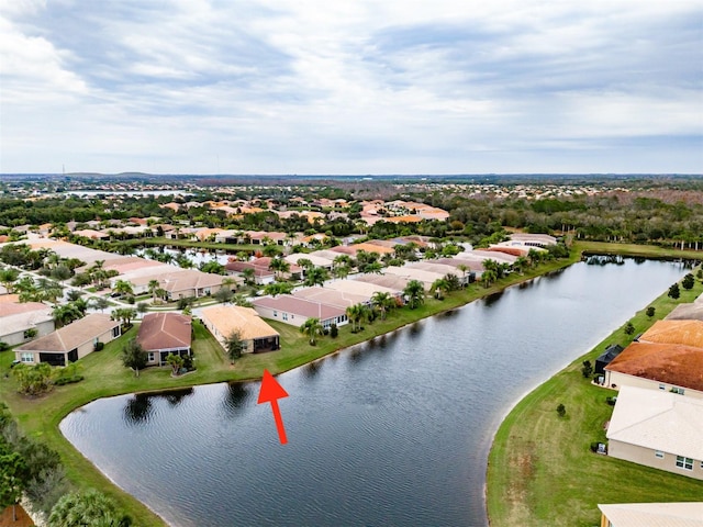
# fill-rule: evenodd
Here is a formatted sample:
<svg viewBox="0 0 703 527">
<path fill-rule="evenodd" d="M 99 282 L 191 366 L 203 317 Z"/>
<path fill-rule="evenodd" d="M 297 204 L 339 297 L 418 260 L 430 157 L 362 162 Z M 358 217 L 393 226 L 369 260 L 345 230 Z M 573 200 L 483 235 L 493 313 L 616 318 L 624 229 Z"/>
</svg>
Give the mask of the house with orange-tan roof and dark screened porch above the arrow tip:
<svg viewBox="0 0 703 527">
<path fill-rule="evenodd" d="M 239 333 L 242 351 L 257 354 L 280 348 L 280 335 L 261 319 L 252 307 L 238 305 L 213 305 L 204 307 L 200 315 L 202 323 L 223 348 L 233 332 Z"/>
</svg>

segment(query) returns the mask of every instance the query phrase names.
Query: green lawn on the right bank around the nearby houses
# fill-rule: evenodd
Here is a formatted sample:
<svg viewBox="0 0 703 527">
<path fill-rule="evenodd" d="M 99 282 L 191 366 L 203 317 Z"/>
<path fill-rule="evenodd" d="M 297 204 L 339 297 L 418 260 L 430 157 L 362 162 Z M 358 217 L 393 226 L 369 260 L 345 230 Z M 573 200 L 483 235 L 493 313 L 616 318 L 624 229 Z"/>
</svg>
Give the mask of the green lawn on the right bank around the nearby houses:
<svg viewBox="0 0 703 527">
<path fill-rule="evenodd" d="M 632 337 L 663 318 L 679 302 L 692 302 L 703 292 L 681 289 L 679 301 L 662 294 L 651 303 L 652 318 L 638 312 L 635 333 L 615 330 L 523 399 L 502 423 L 488 468 L 488 512 L 492 527 L 600 525 L 599 503 L 701 501 L 703 481 L 649 469 L 592 453 L 592 441 L 605 441 L 604 423 L 613 407 L 605 397 L 614 391 L 594 386 L 581 374 L 609 344 L 627 346 Z M 567 414 L 557 415 L 561 403 Z"/>
</svg>

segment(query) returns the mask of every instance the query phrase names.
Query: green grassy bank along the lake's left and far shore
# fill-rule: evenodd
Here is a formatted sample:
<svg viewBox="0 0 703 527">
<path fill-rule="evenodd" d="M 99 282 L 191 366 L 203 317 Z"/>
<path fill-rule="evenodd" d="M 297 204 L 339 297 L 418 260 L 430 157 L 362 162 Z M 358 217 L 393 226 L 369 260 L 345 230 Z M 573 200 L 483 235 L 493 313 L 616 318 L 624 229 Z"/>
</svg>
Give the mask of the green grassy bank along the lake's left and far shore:
<svg viewBox="0 0 703 527">
<path fill-rule="evenodd" d="M 16 393 L 15 383 L 11 378 L 0 379 L 0 396 L 7 402 L 25 434 L 41 438 L 60 453 L 67 476 L 76 486 L 102 490 L 130 512 L 135 525 L 163 526 L 165 523 L 160 517 L 142 502 L 119 489 L 64 438 L 58 425 L 66 415 L 91 401 L 107 396 L 216 382 L 254 381 L 260 379 L 264 369 L 268 369 L 274 374 L 282 373 L 422 318 L 457 309 L 510 285 L 566 268 L 578 261 L 584 251 L 603 253 L 602 245 L 611 247 L 613 244 L 574 244 L 572 256 L 569 259 L 544 264 L 537 269 L 526 270 L 522 276 L 510 276 L 499 280 L 490 288 L 473 284 L 464 291 L 447 294 L 443 301 L 427 299 L 425 304 L 416 310 L 398 310 L 389 315 L 388 319 L 377 319 L 373 324 L 367 324 L 364 330 L 356 334 L 353 334 L 349 327 L 343 327 L 336 339 L 324 337 L 315 347 L 308 345 L 305 337 L 298 332 L 298 328 L 272 322 L 271 325 L 281 334 L 281 351 L 247 355 L 237 360 L 234 366 L 230 366 L 222 348 L 204 327 L 197 324 L 194 349 L 198 370 L 188 375 L 174 379 L 167 369 L 148 369 L 143 371 L 140 378 L 134 378 L 120 362 L 121 343 L 123 341 L 120 340 L 109 344 L 101 352 L 91 354 L 81 359 L 85 365 L 86 380 L 78 384 L 57 386 L 47 395 L 27 400 Z M 625 254 L 629 255 L 629 253 Z M 636 256 L 651 257 L 646 251 Z M 701 258 L 702 256 L 693 251 L 669 250 L 668 257 Z M 131 332 L 133 336 L 135 329 L 133 328 Z M 126 338 L 129 337 L 130 335 Z M 8 371 L 9 362 L 13 358 L 13 354 L 0 354 L 0 369 Z"/>
</svg>

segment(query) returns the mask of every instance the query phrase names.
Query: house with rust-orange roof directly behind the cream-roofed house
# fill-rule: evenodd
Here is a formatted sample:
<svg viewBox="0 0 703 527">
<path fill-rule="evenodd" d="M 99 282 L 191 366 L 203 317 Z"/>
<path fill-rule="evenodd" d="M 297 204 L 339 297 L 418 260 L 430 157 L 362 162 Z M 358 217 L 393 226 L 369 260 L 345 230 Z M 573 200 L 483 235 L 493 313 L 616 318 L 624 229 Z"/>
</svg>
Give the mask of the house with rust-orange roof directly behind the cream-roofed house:
<svg viewBox="0 0 703 527">
<path fill-rule="evenodd" d="M 703 348 L 633 343 L 604 368 L 605 385 L 639 386 L 703 399 Z"/>
</svg>

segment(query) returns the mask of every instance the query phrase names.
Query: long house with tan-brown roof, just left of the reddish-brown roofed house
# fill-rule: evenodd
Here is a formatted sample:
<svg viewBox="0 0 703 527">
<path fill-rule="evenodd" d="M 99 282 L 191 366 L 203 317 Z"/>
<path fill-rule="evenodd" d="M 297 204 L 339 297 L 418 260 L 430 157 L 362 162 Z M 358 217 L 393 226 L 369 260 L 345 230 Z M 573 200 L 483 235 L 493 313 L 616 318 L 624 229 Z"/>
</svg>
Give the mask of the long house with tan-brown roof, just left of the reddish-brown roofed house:
<svg viewBox="0 0 703 527">
<path fill-rule="evenodd" d="M 93 313 L 48 335 L 14 348 L 21 362 L 66 366 L 91 354 L 98 343 L 107 344 L 121 335 L 120 322 Z"/>
</svg>

